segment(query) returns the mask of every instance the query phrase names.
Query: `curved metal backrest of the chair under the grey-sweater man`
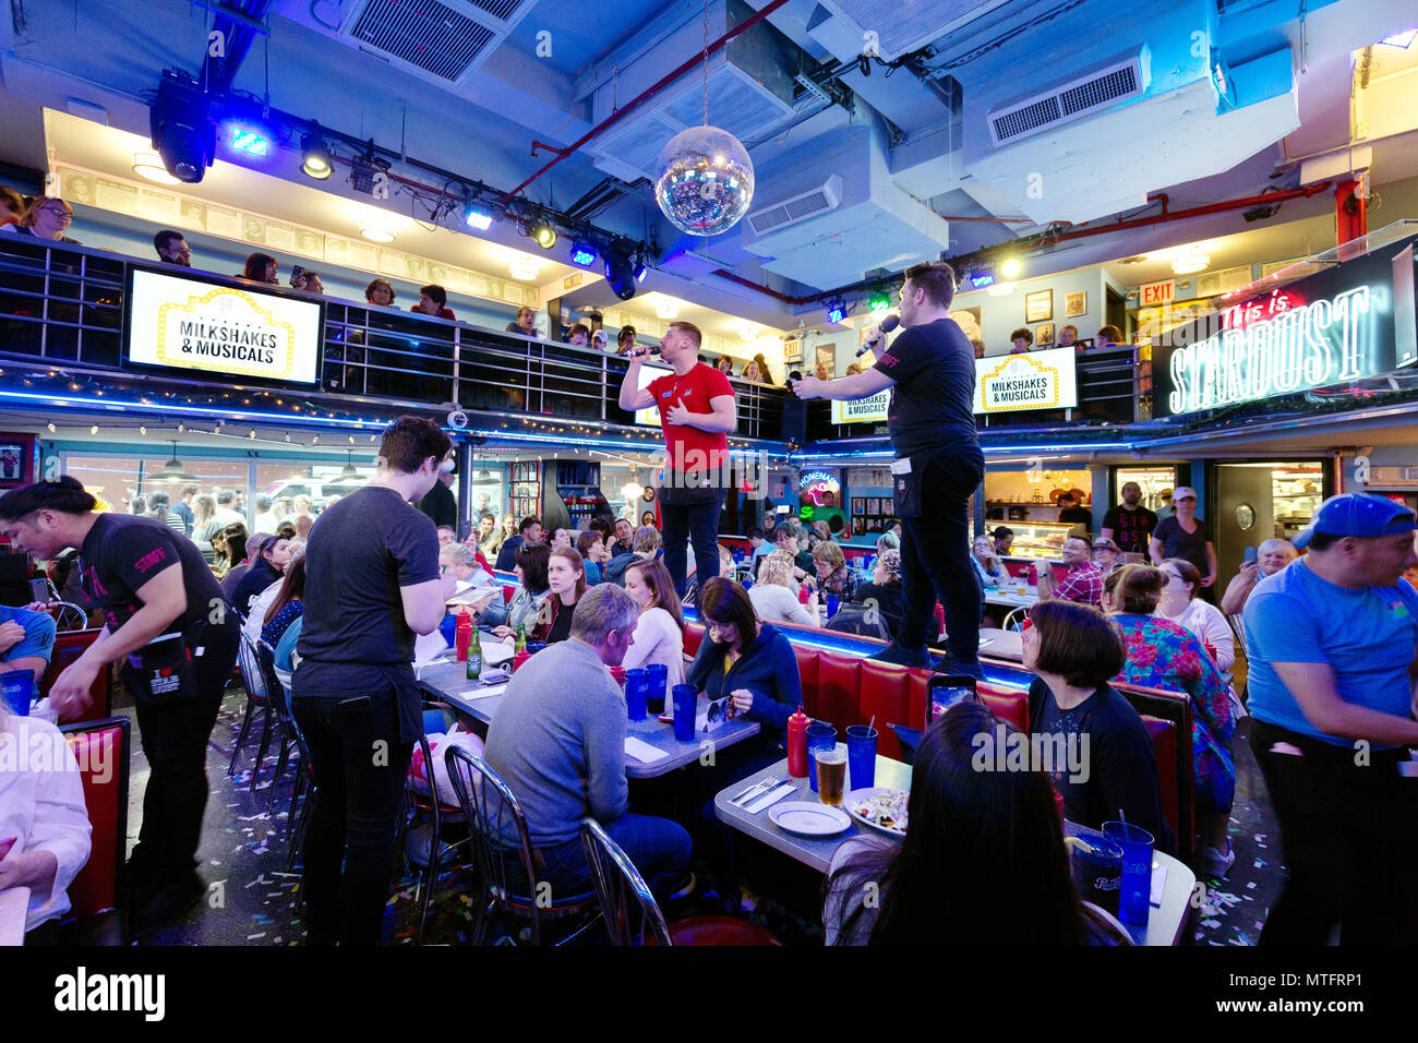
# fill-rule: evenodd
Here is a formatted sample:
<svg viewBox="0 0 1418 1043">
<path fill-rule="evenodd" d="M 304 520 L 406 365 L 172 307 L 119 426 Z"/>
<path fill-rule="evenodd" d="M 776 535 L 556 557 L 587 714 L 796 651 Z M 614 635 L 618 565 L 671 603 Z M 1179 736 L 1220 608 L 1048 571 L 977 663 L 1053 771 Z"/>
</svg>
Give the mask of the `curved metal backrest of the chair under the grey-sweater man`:
<svg viewBox="0 0 1418 1043">
<path fill-rule="evenodd" d="M 532 920 L 532 942 L 540 944 L 542 903 L 537 895 L 536 864 L 532 856 L 532 834 L 527 832 L 526 815 L 518 803 L 512 788 L 502 780 L 479 756 L 461 746 L 450 745 L 444 755 L 448 779 L 458 795 L 458 806 L 468 820 L 468 834 L 472 841 L 484 898 L 492 898 L 505 910 L 516 911 Z M 522 863 L 526 876 L 526 894 L 513 894 L 508 884 L 508 849 L 503 837 L 516 837 L 512 854 Z M 513 908 L 516 907 L 516 908 Z"/>
</svg>

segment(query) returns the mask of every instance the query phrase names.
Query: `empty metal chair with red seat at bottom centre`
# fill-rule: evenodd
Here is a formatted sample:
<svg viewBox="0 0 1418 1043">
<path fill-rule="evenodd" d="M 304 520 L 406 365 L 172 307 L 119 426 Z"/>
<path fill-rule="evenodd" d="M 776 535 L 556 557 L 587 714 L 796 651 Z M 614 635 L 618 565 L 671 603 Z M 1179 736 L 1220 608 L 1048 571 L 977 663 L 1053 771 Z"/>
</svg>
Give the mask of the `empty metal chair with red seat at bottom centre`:
<svg viewBox="0 0 1418 1043">
<path fill-rule="evenodd" d="M 781 945 L 773 934 L 735 917 L 689 917 L 665 922 L 665 914 L 635 863 L 596 819 L 581 819 L 581 849 L 601 904 L 611 945 Z M 634 898 L 634 903 L 631 903 Z M 637 917 L 638 914 L 638 917 Z M 647 939 L 647 928 L 652 935 Z"/>
</svg>

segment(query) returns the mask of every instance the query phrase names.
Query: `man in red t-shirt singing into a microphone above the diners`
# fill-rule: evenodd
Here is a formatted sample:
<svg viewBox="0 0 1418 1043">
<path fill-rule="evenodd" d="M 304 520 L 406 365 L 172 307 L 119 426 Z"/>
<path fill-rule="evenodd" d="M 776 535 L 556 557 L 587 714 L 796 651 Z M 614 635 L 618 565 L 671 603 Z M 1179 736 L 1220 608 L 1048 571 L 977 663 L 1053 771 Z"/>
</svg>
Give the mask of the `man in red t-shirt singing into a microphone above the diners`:
<svg viewBox="0 0 1418 1043">
<path fill-rule="evenodd" d="M 659 356 L 674 373 L 640 387 L 640 368 L 649 353 L 634 345 L 630 368 L 621 385 L 620 407 L 624 410 L 659 409 L 665 433 L 665 482 L 659 487 L 659 517 L 664 525 L 665 568 L 675 589 L 685 592 L 685 543 L 693 543 L 699 587 L 709 576 L 719 575 L 719 512 L 727 481 L 725 458 L 737 414 L 733 387 L 712 366 L 700 365 L 699 343 L 703 338 L 692 322 L 671 322 L 659 341 Z"/>
</svg>

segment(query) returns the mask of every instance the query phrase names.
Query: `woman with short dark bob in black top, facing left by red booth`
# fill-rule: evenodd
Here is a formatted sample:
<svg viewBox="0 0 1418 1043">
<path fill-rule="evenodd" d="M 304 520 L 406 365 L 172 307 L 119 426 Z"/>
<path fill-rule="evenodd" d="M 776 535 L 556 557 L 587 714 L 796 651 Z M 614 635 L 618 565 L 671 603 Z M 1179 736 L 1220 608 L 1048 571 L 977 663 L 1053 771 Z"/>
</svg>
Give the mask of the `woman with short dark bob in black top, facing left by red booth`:
<svg viewBox="0 0 1418 1043">
<path fill-rule="evenodd" d="M 1141 717 L 1109 681 L 1123 668 L 1123 640 L 1092 605 L 1044 600 L 1029 609 L 1024 668 L 1029 734 L 1051 751 L 1048 773 L 1069 822 L 1102 829 L 1119 813 L 1173 850 L 1161 813 L 1157 759 Z"/>
</svg>

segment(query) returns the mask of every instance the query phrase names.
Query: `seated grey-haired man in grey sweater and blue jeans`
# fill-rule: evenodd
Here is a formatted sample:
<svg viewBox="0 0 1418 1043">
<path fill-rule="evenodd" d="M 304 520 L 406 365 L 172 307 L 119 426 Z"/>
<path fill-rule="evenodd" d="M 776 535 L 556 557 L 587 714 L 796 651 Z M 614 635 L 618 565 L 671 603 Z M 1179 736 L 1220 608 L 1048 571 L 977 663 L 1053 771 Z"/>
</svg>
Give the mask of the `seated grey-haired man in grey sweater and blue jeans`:
<svg viewBox="0 0 1418 1043">
<path fill-rule="evenodd" d="M 576 607 L 570 640 L 533 656 L 512 675 L 488 728 L 484 756 L 516 793 L 537 859 L 537 883 L 549 884 L 553 894 L 590 890 L 580 840 L 587 816 L 605 829 L 661 898 L 668 898 L 689 861 L 691 841 L 682 826 L 630 812 L 625 698 L 607 667 L 623 664 L 637 616 L 624 590 L 603 583 L 588 592 Z M 505 833 L 509 884 L 526 891 L 515 844 L 516 836 Z"/>
</svg>

